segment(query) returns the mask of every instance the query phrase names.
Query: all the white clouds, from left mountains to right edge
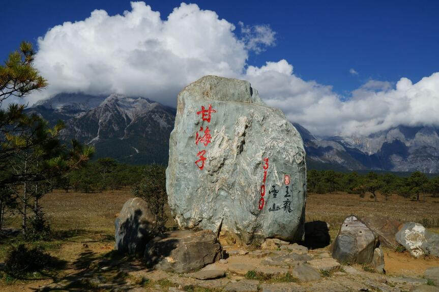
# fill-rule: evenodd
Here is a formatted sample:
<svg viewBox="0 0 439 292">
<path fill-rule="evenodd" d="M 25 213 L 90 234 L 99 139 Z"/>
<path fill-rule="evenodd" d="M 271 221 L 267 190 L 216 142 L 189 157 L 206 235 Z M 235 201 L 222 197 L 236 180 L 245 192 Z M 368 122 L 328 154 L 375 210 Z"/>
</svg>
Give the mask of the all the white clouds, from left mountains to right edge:
<svg viewBox="0 0 439 292">
<path fill-rule="evenodd" d="M 396 85 L 369 80 L 350 96 L 340 96 L 331 86 L 301 79 L 286 60 L 248 66 L 251 51 L 275 45 L 276 33 L 268 25 L 239 23 L 237 32 L 214 11 L 194 4 L 181 4 L 166 20 L 143 2 L 131 6 L 123 15 L 95 10 L 39 38 L 35 65 L 49 88 L 32 96 L 31 103 L 61 92 L 84 92 L 141 95 L 175 106 L 186 84 L 214 74 L 249 80 L 267 104 L 318 135 L 439 125 L 439 73 L 415 84 L 407 78 Z"/>
</svg>

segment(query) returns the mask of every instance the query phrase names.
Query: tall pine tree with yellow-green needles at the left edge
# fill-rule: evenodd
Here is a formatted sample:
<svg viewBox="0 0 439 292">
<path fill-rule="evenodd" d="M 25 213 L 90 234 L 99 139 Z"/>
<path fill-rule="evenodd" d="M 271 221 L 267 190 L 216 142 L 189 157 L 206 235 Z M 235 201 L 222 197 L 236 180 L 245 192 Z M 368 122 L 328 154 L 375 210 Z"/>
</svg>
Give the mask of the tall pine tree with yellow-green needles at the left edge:
<svg viewBox="0 0 439 292">
<path fill-rule="evenodd" d="M 23 236 L 27 236 L 31 210 L 34 219 L 42 218 L 39 199 L 51 190 L 53 179 L 80 167 L 94 153 L 94 148 L 76 141 L 67 150 L 58 139 L 64 127 L 61 122 L 49 128 L 40 116 L 25 114 L 25 105 L 11 103 L 6 110 L 2 108 L 6 99 L 22 98 L 47 85 L 33 67 L 34 55 L 32 45 L 23 42 L 20 51 L 11 53 L 5 65 L 0 66 L 0 217 L 3 225 L 4 206 L 8 206 L 4 203 L 5 192 L 12 193 L 18 205 L 15 210 L 22 215 Z M 37 221 L 41 222 L 33 222 Z"/>
</svg>

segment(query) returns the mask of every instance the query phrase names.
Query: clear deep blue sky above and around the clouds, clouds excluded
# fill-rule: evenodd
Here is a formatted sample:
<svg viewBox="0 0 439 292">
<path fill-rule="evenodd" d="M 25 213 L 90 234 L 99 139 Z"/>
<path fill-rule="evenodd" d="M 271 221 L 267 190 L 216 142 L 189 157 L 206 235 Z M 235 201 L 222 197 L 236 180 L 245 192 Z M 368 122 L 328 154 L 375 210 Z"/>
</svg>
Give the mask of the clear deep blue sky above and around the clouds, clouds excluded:
<svg viewBox="0 0 439 292">
<path fill-rule="evenodd" d="M 18 4 L 19 3 L 19 4 Z M 179 1 L 148 1 L 166 17 Z M 269 24 L 276 46 L 253 55 L 250 65 L 286 59 L 296 74 L 333 85 L 344 93 L 369 78 L 416 82 L 439 65 L 437 1 L 192 1 L 201 9 L 238 24 Z M 21 40 L 36 42 L 65 21 L 82 20 L 95 9 L 110 15 L 130 9 L 129 1 L 10 1 L 0 23 L 8 27 L 0 57 L 5 60 Z M 17 15 L 20 15 L 17 17 Z M 349 74 L 355 69 L 359 75 Z"/>
</svg>

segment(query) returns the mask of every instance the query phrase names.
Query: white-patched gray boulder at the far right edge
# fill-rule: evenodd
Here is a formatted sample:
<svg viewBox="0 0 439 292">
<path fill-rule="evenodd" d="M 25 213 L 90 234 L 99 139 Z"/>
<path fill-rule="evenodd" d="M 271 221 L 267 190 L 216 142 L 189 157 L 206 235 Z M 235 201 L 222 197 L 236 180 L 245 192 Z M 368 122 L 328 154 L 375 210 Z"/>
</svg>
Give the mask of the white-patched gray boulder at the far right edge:
<svg viewBox="0 0 439 292">
<path fill-rule="evenodd" d="M 408 222 L 396 233 L 396 241 L 415 257 L 424 254 L 439 256 L 439 235 L 419 223 Z"/>
</svg>

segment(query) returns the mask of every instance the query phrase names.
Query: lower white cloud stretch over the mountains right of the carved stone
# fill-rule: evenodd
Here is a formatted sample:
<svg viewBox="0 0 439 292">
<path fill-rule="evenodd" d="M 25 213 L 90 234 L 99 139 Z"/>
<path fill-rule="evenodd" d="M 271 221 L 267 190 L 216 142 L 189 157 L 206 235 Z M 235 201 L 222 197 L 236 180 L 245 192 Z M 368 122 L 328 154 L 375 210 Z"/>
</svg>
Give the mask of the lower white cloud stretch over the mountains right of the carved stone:
<svg viewBox="0 0 439 292">
<path fill-rule="evenodd" d="M 304 81 L 288 66 L 285 60 L 249 66 L 247 78 L 267 104 L 317 135 L 367 135 L 398 125 L 439 125 L 439 72 L 415 84 L 401 78 L 395 87 L 369 80 L 346 98 L 331 86 Z"/>
</svg>

